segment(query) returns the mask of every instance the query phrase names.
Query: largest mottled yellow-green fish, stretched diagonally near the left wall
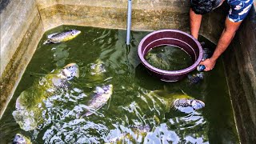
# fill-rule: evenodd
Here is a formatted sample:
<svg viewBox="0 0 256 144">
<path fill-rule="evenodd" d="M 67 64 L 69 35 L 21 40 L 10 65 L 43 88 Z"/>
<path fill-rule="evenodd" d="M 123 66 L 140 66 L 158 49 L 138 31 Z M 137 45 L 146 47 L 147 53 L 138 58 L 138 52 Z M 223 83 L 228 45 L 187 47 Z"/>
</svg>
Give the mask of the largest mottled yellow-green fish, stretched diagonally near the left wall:
<svg viewBox="0 0 256 144">
<path fill-rule="evenodd" d="M 45 109 L 43 101 L 54 94 L 62 94 L 70 86 L 69 81 L 78 76 L 78 65 L 70 63 L 61 70 L 54 70 L 52 74 L 35 80 L 30 88 L 22 91 L 13 112 L 14 119 L 22 130 L 34 130 L 42 123 L 42 111 Z"/>
</svg>

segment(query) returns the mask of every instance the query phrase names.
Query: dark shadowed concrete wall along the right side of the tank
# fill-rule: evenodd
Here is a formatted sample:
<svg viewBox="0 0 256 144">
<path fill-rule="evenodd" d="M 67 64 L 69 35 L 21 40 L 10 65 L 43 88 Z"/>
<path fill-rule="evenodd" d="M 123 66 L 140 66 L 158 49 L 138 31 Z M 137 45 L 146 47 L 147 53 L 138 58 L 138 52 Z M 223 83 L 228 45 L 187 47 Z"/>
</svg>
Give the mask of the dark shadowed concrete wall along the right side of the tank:
<svg viewBox="0 0 256 144">
<path fill-rule="evenodd" d="M 240 26 L 224 54 L 226 77 L 242 143 L 256 142 L 256 12 Z"/>
</svg>

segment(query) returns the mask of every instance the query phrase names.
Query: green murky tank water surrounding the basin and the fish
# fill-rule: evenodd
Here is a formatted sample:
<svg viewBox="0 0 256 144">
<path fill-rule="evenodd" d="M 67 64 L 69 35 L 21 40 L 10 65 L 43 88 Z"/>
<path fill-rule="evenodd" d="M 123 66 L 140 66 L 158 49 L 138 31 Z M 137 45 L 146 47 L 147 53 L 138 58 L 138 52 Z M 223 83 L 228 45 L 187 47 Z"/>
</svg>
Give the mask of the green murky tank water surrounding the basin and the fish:
<svg viewBox="0 0 256 144">
<path fill-rule="evenodd" d="M 69 42 L 42 45 L 47 34 L 71 28 L 82 33 Z M 17 133 L 34 143 L 238 143 L 221 60 L 198 84 L 191 85 L 187 78 L 161 82 L 148 74 L 138 58 L 138 43 L 148 33 L 132 31 L 131 45 L 126 46 L 126 30 L 59 26 L 47 31 L 0 120 L 1 143 L 10 143 Z M 208 41 L 206 46 L 214 48 Z M 104 62 L 106 72 L 94 78 L 90 69 L 98 59 Z M 78 64 L 80 77 L 66 93 L 42 102 L 42 124 L 35 130 L 22 130 L 12 115 L 16 98 L 37 78 L 71 62 Z M 77 119 L 79 106 L 90 101 L 95 87 L 109 84 L 114 90 L 106 105 L 96 114 Z M 151 94 L 154 90 L 165 92 Z M 182 94 L 202 100 L 206 107 L 184 114 L 166 106 L 166 99 Z"/>
</svg>

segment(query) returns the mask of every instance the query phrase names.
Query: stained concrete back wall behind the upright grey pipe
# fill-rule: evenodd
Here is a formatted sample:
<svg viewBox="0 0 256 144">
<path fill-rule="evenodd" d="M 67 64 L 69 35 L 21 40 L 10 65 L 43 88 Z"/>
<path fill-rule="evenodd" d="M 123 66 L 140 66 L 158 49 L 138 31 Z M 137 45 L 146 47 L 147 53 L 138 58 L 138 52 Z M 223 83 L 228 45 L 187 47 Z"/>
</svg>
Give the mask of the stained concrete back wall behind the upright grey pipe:
<svg viewBox="0 0 256 144">
<path fill-rule="evenodd" d="M 37 2 L 46 30 L 61 24 L 126 29 L 127 0 Z M 188 31 L 188 10 L 189 3 L 186 0 L 133 0 L 132 28 L 172 28 Z"/>
</svg>

